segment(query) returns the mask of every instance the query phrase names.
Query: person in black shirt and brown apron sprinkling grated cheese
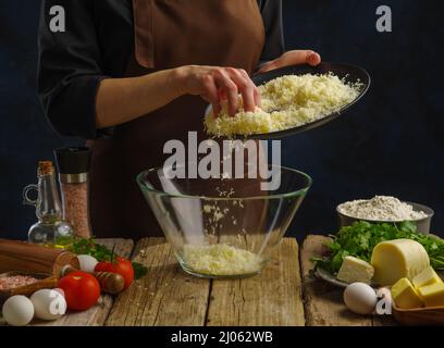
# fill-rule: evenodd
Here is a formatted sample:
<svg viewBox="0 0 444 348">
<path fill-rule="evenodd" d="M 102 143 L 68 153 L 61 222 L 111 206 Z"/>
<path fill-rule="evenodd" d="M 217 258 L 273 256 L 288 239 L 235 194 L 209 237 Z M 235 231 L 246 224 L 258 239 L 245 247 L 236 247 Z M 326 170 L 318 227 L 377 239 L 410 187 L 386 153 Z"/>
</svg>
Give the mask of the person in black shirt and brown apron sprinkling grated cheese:
<svg viewBox="0 0 444 348">
<path fill-rule="evenodd" d="M 51 32 L 51 8 L 65 13 Z M 284 53 L 281 0 L 44 0 L 38 91 L 61 135 L 92 150 L 90 220 L 99 237 L 160 235 L 135 177 L 165 160 L 168 140 L 203 136 L 202 115 L 260 105 L 249 76 L 317 65 Z"/>
</svg>

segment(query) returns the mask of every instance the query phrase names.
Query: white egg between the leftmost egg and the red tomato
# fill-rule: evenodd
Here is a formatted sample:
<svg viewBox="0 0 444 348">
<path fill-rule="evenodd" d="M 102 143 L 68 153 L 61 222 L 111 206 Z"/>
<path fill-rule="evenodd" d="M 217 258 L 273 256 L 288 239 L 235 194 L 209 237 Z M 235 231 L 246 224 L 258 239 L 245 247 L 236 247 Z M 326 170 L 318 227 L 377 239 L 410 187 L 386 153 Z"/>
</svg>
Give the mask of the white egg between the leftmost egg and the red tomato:
<svg viewBox="0 0 444 348">
<path fill-rule="evenodd" d="M 66 312 L 66 300 L 58 290 L 38 290 L 33 294 L 30 300 L 38 319 L 57 320 Z"/>
</svg>

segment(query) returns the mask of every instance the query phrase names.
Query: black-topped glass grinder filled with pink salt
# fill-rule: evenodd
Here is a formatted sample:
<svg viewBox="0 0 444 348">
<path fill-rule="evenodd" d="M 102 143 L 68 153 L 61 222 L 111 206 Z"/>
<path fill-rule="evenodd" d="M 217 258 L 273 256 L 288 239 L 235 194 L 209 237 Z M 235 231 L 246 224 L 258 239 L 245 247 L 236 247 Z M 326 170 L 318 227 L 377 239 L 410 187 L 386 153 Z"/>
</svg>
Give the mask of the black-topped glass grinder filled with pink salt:
<svg viewBox="0 0 444 348">
<path fill-rule="evenodd" d="M 54 151 L 60 188 L 62 192 L 63 219 L 70 223 L 76 237 L 92 236 L 89 224 L 89 184 L 91 152 L 86 147 L 62 148 Z"/>
</svg>

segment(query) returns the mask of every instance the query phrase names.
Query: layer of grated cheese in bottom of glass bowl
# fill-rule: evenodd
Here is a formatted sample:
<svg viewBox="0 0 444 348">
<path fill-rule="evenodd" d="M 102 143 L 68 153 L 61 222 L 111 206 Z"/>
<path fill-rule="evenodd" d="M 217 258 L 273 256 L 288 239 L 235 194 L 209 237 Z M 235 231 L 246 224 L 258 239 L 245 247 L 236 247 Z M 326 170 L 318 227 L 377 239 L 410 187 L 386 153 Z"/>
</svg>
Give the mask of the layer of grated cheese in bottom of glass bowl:
<svg viewBox="0 0 444 348">
<path fill-rule="evenodd" d="M 257 273 L 263 263 L 262 257 L 227 244 L 185 245 L 183 259 L 197 273 L 219 276 Z"/>
</svg>

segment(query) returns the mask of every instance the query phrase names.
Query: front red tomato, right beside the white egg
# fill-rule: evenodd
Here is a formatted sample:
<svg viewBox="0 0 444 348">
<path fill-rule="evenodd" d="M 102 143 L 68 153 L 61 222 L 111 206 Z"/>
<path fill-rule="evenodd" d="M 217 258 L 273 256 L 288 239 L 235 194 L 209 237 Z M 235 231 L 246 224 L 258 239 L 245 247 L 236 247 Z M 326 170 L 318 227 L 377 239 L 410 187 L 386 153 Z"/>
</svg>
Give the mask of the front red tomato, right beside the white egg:
<svg viewBox="0 0 444 348">
<path fill-rule="evenodd" d="M 74 311 L 86 311 L 97 303 L 100 296 L 99 282 L 82 271 L 62 277 L 58 287 L 64 291 L 67 308 Z"/>
</svg>

